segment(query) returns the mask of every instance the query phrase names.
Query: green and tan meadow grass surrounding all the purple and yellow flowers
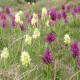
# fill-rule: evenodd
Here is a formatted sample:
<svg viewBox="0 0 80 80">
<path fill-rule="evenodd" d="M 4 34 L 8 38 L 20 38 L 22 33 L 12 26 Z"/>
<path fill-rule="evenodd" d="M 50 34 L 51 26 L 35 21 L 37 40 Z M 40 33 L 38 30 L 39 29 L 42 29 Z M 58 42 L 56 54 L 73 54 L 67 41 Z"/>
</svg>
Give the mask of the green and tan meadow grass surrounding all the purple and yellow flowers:
<svg viewBox="0 0 80 80">
<path fill-rule="evenodd" d="M 0 21 L 0 55 L 4 47 L 8 48 L 9 57 L 7 59 L 1 59 L 0 56 L 0 79 L 1 80 L 80 80 L 80 70 L 77 67 L 77 57 L 73 58 L 70 51 L 70 44 L 77 41 L 80 49 L 80 18 L 79 13 L 73 16 L 70 12 L 66 11 L 68 16 L 68 23 L 64 23 L 64 19 L 56 21 L 52 26 L 47 26 L 47 21 L 51 20 L 50 17 L 44 16 L 43 19 L 38 19 L 38 24 L 29 24 L 25 13 L 32 16 L 41 13 L 42 8 L 57 8 L 57 12 L 61 11 L 61 5 L 73 3 L 64 1 L 63 3 L 56 2 L 54 0 L 42 0 L 36 2 L 34 5 L 25 4 L 23 0 L 20 1 L 19 6 L 17 1 L 14 0 L 1 0 L 0 6 L 11 6 L 11 13 L 16 14 L 22 10 L 21 20 L 25 30 L 21 31 L 20 24 L 17 23 L 14 27 L 11 25 L 11 17 L 6 14 L 7 26 L 3 28 Z M 35 0 L 27 0 L 35 1 Z M 55 3 L 54 3 L 55 2 Z M 79 5 L 80 1 L 76 1 L 75 5 Z M 17 6 L 16 6 L 17 5 Z M 16 9 L 17 8 L 17 9 Z M 21 12 L 20 12 L 21 14 Z M 45 13 L 46 14 L 46 13 Z M 1 19 L 0 19 L 1 20 Z M 19 16 L 18 20 L 19 21 Z M 35 21 L 35 20 L 34 20 Z M 21 22 L 22 23 L 22 22 Z M 37 39 L 29 43 L 25 43 L 26 35 L 34 34 L 35 28 L 40 32 L 40 36 Z M 55 41 L 52 44 L 46 42 L 46 35 L 52 32 L 55 35 Z M 36 32 L 38 33 L 38 32 Z M 64 43 L 64 36 L 69 34 L 71 43 Z M 38 35 L 38 34 L 36 34 Z M 30 41 L 30 40 L 29 40 Z M 53 61 L 51 64 L 44 64 L 42 56 L 46 48 L 51 50 L 53 55 Z M 23 51 L 28 52 L 31 58 L 30 64 L 26 67 L 22 65 L 20 61 Z"/>
</svg>

